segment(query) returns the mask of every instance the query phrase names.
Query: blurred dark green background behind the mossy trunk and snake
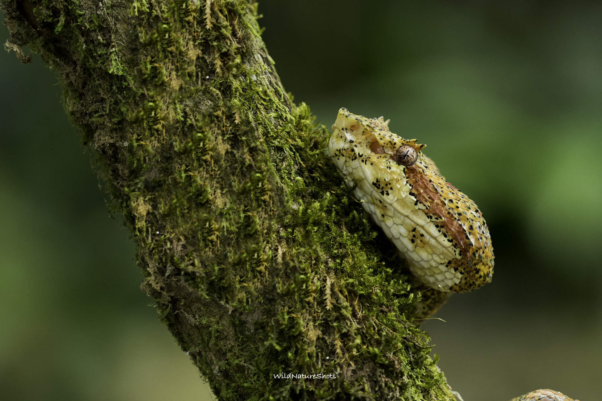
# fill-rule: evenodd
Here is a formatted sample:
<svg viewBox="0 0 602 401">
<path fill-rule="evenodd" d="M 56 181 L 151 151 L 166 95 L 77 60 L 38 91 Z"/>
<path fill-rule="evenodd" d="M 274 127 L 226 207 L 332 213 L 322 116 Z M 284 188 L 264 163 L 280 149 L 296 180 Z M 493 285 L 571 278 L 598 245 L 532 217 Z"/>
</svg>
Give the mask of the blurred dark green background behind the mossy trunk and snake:
<svg viewBox="0 0 602 401">
<path fill-rule="evenodd" d="M 602 3 L 260 2 L 296 102 L 391 118 L 483 211 L 494 281 L 423 328 L 465 401 L 602 394 Z M 8 38 L 0 29 L 2 41 Z M 209 400 L 138 289 L 40 58 L 0 52 L 0 399 Z"/>
</svg>

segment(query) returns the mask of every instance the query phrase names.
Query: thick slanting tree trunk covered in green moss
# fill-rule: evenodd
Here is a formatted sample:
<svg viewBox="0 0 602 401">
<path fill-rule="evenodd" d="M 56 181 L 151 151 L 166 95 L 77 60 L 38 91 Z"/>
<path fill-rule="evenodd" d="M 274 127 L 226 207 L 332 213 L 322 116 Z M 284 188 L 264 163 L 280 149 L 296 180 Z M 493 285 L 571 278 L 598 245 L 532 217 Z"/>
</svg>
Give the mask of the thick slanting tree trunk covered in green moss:
<svg viewBox="0 0 602 401">
<path fill-rule="evenodd" d="M 6 46 L 58 71 L 143 289 L 220 400 L 453 399 L 403 262 L 282 87 L 256 2 L 0 5 Z"/>
</svg>

